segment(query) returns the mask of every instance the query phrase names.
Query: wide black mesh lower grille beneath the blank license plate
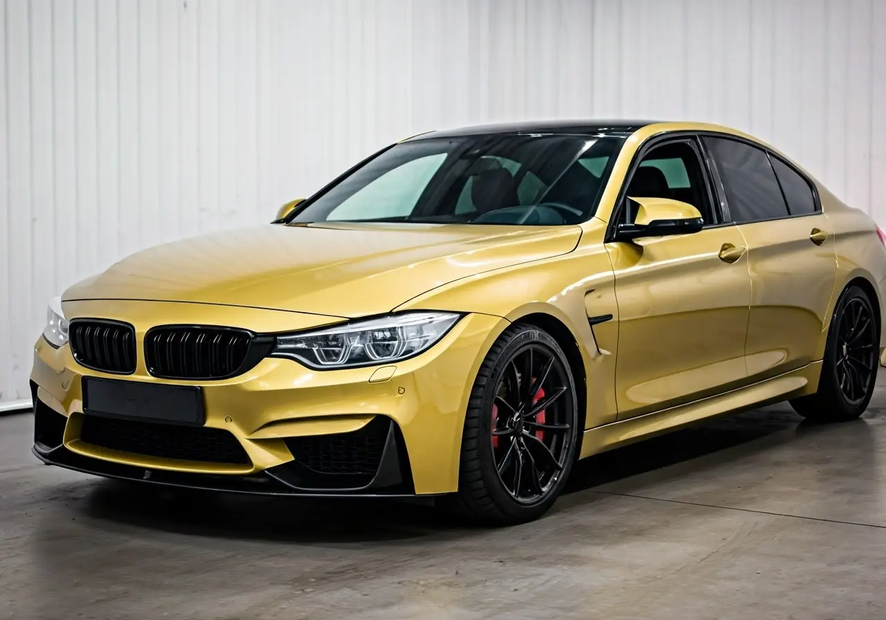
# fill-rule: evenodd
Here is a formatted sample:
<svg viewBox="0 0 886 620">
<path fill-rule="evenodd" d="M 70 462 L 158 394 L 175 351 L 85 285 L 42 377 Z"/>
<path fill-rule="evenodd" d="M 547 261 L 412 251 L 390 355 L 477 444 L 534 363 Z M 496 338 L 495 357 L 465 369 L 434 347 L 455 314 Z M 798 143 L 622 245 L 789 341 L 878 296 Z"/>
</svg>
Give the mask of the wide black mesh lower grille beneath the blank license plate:
<svg viewBox="0 0 886 620">
<path fill-rule="evenodd" d="M 163 459 L 248 465 L 243 446 L 227 430 L 84 415 L 80 439 L 92 446 Z"/>
</svg>

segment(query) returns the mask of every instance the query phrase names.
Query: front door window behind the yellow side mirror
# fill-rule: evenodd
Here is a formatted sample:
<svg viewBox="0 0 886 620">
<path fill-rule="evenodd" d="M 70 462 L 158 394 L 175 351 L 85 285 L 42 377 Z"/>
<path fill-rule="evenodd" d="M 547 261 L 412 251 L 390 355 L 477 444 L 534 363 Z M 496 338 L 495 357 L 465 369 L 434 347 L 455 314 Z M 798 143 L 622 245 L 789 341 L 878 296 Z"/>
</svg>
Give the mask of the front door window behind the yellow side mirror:
<svg viewBox="0 0 886 620">
<path fill-rule="evenodd" d="M 716 221 L 702 161 L 688 140 L 664 143 L 643 155 L 633 171 L 626 197 L 680 200 L 695 206 L 705 224 Z M 636 204 L 625 200 L 622 221 L 633 223 L 636 216 Z"/>
</svg>

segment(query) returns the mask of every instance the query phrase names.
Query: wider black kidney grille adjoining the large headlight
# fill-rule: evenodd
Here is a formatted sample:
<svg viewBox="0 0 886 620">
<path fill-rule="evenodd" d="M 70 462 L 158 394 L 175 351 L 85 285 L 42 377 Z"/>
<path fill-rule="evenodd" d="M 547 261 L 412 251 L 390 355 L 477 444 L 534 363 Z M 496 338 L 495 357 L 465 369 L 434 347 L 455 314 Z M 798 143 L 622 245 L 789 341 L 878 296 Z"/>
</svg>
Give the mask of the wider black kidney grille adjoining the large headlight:
<svg viewBox="0 0 886 620">
<path fill-rule="evenodd" d="M 148 372 L 167 379 L 223 379 L 245 372 L 255 364 L 251 356 L 253 335 L 245 329 L 165 326 L 150 329 L 144 337 Z"/>
</svg>

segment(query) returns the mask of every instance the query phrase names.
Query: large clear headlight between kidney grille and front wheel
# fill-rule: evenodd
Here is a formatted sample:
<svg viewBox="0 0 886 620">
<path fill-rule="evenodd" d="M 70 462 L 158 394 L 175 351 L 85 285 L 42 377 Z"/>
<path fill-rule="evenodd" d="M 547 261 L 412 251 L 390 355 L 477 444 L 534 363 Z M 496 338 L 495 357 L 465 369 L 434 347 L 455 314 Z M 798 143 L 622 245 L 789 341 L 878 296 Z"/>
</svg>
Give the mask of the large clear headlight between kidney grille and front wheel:
<svg viewBox="0 0 886 620">
<path fill-rule="evenodd" d="M 317 369 L 375 366 L 422 353 L 444 337 L 459 314 L 414 312 L 276 337 L 275 357 Z"/>
</svg>

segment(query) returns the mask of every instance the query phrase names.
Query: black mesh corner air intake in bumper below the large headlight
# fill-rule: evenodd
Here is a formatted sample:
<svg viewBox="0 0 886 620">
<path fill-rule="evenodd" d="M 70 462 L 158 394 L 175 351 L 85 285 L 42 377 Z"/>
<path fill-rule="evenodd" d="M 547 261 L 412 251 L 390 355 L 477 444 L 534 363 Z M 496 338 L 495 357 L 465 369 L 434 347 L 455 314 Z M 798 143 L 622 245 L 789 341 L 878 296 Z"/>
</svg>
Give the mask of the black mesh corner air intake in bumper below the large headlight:
<svg viewBox="0 0 886 620">
<path fill-rule="evenodd" d="M 390 426 L 390 418 L 378 415 L 354 432 L 284 441 L 296 461 L 319 474 L 375 474 Z"/>
</svg>

